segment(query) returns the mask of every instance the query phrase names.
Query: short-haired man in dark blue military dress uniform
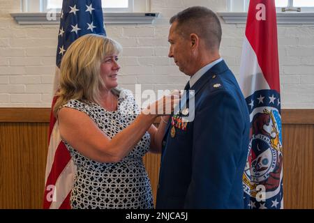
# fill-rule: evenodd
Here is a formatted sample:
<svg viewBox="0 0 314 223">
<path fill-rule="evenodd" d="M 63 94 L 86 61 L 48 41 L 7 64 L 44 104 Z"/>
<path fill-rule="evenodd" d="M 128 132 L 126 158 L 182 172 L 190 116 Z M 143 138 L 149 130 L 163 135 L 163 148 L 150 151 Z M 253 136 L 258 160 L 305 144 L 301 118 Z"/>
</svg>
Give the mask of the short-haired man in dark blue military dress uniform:
<svg viewBox="0 0 314 223">
<path fill-rule="evenodd" d="M 218 17 L 195 6 L 170 24 L 169 56 L 190 76 L 190 91 L 186 107 L 167 123 L 156 208 L 244 208 L 249 115 L 237 80 L 220 58 Z"/>
</svg>

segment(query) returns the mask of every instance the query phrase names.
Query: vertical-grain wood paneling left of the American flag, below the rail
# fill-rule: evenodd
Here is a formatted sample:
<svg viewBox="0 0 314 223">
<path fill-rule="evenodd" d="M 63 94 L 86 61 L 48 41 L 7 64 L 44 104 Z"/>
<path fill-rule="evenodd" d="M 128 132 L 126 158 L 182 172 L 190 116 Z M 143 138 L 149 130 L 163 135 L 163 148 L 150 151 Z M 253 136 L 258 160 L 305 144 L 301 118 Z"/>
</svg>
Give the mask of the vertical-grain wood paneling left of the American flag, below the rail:
<svg viewBox="0 0 314 223">
<path fill-rule="evenodd" d="M 47 123 L 0 124 L 0 208 L 41 208 Z"/>
</svg>

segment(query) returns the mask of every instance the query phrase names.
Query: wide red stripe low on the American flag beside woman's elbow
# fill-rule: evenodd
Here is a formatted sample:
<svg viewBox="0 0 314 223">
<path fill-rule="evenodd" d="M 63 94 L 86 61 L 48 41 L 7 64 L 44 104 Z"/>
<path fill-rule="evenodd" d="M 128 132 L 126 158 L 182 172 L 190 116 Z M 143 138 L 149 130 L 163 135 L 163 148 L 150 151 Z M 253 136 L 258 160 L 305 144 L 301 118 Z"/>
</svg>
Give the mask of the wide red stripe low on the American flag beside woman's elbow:
<svg viewBox="0 0 314 223">
<path fill-rule="evenodd" d="M 56 153 L 54 153 L 54 162 L 52 164 L 52 168 L 50 170 L 50 174 L 47 177 L 46 185 L 45 185 L 45 197 L 44 197 L 44 205 L 43 208 L 49 208 L 52 201 L 47 200 L 47 194 L 51 192 L 51 190 L 47 190 L 47 186 L 55 185 L 57 179 L 59 178 L 61 172 L 66 167 L 68 162 L 70 161 L 70 153 L 68 152 L 66 145 L 61 141 Z M 69 203 L 68 203 L 69 204 Z"/>
</svg>

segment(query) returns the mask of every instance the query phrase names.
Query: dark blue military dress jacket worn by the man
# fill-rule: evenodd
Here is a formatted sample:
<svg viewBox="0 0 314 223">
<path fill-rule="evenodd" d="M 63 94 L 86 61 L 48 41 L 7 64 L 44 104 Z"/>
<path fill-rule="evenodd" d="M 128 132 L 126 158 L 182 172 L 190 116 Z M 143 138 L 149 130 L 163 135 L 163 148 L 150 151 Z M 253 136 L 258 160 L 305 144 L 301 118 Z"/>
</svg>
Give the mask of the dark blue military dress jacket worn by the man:
<svg viewBox="0 0 314 223">
<path fill-rule="evenodd" d="M 195 118 L 171 136 L 170 117 L 156 208 L 244 208 L 249 114 L 237 80 L 221 61 L 190 90 Z"/>
</svg>

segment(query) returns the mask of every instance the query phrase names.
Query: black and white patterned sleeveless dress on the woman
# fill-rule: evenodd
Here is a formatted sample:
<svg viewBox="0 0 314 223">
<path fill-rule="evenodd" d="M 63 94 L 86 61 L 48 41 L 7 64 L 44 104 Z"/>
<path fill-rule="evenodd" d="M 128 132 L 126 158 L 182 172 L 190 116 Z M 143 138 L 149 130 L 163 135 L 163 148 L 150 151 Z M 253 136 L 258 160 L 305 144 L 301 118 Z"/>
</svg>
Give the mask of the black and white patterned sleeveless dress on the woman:
<svg viewBox="0 0 314 223">
<path fill-rule="evenodd" d="M 114 112 L 107 112 L 96 103 L 78 100 L 70 100 L 63 107 L 86 113 L 110 138 L 130 125 L 139 113 L 133 94 L 126 90 L 121 91 L 118 109 Z M 77 167 L 71 208 L 154 208 L 150 180 L 142 161 L 150 140 L 146 132 L 135 148 L 117 163 L 91 160 L 63 141 Z"/>
</svg>

